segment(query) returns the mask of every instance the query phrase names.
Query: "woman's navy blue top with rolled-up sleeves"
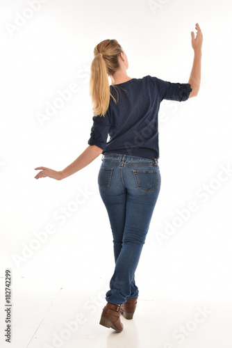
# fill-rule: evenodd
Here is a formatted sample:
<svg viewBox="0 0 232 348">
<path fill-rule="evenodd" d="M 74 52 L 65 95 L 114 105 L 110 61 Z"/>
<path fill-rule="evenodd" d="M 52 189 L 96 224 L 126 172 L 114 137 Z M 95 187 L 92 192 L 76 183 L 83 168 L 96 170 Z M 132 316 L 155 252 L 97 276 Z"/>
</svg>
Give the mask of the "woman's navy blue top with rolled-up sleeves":
<svg viewBox="0 0 232 348">
<path fill-rule="evenodd" d="M 115 87 L 116 86 L 116 87 Z M 105 116 L 93 116 L 89 145 L 105 152 L 159 158 L 158 111 L 160 102 L 188 100 L 190 84 L 163 81 L 147 75 L 110 85 L 110 104 Z M 109 141 L 108 135 L 110 136 Z"/>
</svg>

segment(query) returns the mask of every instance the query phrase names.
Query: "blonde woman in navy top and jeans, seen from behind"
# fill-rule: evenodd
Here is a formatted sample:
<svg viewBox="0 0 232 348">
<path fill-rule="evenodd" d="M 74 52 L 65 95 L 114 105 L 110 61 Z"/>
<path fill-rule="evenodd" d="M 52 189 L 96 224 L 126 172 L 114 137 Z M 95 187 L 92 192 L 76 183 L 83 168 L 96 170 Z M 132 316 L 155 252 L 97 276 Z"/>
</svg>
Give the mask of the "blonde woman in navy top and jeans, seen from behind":
<svg viewBox="0 0 232 348">
<path fill-rule="evenodd" d="M 42 170 L 35 179 L 62 180 L 103 154 L 98 185 L 113 233 L 115 270 L 99 324 L 118 332 L 124 328 L 120 313 L 132 319 L 135 312 L 139 293 L 135 270 L 160 192 L 160 102 L 185 101 L 199 92 L 203 35 L 198 23 L 196 29 L 196 38 L 191 32 L 194 61 L 188 84 L 171 83 L 150 75 L 131 78 L 126 74 L 129 67 L 126 53 L 117 40 L 100 42 L 94 48 L 90 73 L 94 122 L 88 148 L 63 171 L 35 168 Z"/>
</svg>

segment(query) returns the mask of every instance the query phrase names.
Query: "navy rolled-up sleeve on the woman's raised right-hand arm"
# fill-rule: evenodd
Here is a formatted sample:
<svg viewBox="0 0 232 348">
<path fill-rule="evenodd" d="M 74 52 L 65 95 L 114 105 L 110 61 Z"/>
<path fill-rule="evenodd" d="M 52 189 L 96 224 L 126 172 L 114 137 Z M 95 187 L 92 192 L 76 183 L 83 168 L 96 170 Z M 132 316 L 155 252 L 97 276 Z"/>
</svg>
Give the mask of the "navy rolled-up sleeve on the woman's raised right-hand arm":
<svg viewBox="0 0 232 348">
<path fill-rule="evenodd" d="M 192 92 L 190 84 L 180 84 L 179 82 L 169 82 L 157 77 L 153 77 L 156 82 L 160 102 L 165 100 L 176 100 L 177 102 L 185 102 Z"/>
</svg>

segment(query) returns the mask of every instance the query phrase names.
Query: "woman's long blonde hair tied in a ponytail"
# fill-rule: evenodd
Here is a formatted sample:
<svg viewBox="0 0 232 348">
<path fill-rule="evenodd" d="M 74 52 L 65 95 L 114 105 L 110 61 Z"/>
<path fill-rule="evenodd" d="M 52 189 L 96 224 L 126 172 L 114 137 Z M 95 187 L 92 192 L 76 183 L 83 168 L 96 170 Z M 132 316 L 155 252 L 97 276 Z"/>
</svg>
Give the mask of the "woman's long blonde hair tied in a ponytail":
<svg viewBox="0 0 232 348">
<path fill-rule="evenodd" d="M 105 116 L 110 104 L 108 76 L 119 69 L 118 55 L 123 52 L 117 40 L 103 40 L 94 48 L 94 59 L 90 69 L 90 96 L 94 116 Z M 114 86 L 115 87 L 115 86 Z"/>
</svg>

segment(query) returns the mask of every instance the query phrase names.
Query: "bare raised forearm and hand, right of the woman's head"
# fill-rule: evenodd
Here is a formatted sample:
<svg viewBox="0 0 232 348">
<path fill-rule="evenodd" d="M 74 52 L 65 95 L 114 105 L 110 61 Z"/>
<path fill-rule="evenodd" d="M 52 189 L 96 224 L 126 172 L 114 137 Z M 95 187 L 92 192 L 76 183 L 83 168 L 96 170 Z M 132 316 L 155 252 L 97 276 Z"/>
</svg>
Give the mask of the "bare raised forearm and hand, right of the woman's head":
<svg viewBox="0 0 232 348">
<path fill-rule="evenodd" d="M 197 35 L 196 39 L 194 39 L 194 32 L 191 32 L 192 35 L 192 48 L 194 49 L 194 59 L 192 63 L 192 71 L 190 73 L 190 79 L 188 83 L 192 88 L 192 92 L 190 92 L 191 97 L 197 97 L 197 94 L 200 89 L 201 84 L 201 46 L 203 41 L 203 35 L 201 33 L 201 29 L 199 24 L 196 24 Z"/>
</svg>

